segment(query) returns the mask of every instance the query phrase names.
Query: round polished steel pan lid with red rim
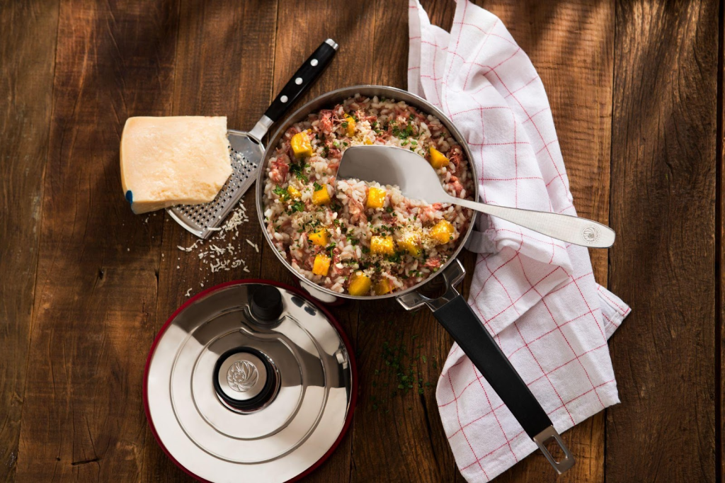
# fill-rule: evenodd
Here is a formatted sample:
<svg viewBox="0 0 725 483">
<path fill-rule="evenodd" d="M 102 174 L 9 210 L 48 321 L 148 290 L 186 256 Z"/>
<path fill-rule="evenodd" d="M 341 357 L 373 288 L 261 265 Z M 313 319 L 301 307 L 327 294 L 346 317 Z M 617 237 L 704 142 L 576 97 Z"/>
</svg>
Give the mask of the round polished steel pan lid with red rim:
<svg viewBox="0 0 725 483">
<path fill-rule="evenodd" d="M 285 482 L 312 471 L 352 417 L 355 362 L 324 309 L 274 282 L 196 295 L 159 331 L 146 416 L 167 455 L 210 482 Z"/>
</svg>

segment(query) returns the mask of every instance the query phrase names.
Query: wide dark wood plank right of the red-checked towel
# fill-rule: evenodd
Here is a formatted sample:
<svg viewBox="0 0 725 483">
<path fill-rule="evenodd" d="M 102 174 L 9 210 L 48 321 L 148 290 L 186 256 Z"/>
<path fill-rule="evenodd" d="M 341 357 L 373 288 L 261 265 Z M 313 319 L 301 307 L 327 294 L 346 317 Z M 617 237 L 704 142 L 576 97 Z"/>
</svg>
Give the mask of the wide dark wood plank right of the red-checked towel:
<svg viewBox="0 0 725 483">
<path fill-rule="evenodd" d="M 616 32 L 610 286 L 633 310 L 613 337 L 607 479 L 719 481 L 718 5 L 618 1 Z"/>
</svg>

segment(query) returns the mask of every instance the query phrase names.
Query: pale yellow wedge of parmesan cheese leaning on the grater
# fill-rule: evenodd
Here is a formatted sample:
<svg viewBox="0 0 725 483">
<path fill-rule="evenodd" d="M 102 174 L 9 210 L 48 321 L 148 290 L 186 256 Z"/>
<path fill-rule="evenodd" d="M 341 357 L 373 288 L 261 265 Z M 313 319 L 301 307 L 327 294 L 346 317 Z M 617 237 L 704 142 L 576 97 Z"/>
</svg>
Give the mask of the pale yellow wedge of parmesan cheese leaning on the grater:
<svg viewBox="0 0 725 483">
<path fill-rule="evenodd" d="M 214 199 L 231 176 L 226 117 L 129 117 L 121 185 L 135 213 Z"/>
</svg>

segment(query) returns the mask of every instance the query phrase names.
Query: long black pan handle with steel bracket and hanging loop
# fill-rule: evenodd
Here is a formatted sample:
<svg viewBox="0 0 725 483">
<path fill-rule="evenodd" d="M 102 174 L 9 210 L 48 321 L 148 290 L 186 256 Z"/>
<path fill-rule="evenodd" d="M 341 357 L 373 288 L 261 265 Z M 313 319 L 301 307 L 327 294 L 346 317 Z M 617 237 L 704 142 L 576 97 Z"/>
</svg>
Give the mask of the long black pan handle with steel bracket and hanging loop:
<svg viewBox="0 0 725 483">
<path fill-rule="evenodd" d="M 551 419 L 484 324 L 479 321 L 476 313 L 455 289 L 455 285 L 463 280 L 465 275 L 463 265 L 459 260 L 455 260 L 444 268 L 442 275 L 447 287 L 442 297 L 429 299 L 418 292 L 410 292 L 400 296 L 398 301 L 408 310 L 423 304 L 433 310 L 433 315 L 439 323 L 451 334 L 486 381 L 489 381 L 526 434 L 537 443 L 549 463 L 559 474 L 567 471 L 574 466 L 575 461 L 563 439 L 554 429 Z M 555 439 L 563 451 L 565 457 L 561 461 L 556 461 L 547 450 L 545 443 L 550 439 Z"/>
</svg>

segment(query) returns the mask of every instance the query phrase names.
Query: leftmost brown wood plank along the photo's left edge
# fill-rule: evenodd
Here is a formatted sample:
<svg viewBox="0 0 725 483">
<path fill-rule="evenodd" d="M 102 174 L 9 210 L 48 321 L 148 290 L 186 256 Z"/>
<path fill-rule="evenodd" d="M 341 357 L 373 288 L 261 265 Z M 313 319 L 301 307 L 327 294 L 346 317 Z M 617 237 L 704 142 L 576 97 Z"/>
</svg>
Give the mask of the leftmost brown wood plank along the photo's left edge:
<svg viewBox="0 0 725 483">
<path fill-rule="evenodd" d="M 13 481 L 48 156 L 57 1 L 0 6 L 0 481 Z"/>
</svg>

